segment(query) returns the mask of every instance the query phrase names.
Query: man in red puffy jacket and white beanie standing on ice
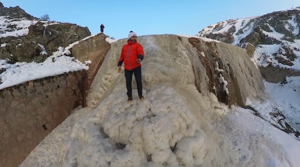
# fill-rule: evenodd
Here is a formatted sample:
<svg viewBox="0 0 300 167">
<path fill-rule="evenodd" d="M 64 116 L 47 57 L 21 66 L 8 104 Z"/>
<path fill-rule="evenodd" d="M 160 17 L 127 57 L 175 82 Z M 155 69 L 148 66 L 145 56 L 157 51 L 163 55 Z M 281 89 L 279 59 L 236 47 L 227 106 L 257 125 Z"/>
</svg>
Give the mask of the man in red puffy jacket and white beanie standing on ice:
<svg viewBox="0 0 300 167">
<path fill-rule="evenodd" d="M 134 74 L 137 82 L 137 92 L 141 100 L 143 97 L 142 86 L 142 68 L 141 61 L 144 59 L 143 46 L 137 43 L 137 34 L 130 31 L 128 34 L 127 44 L 125 44 L 121 51 L 118 69 L 121 70 L 122 63 L 125 65 L 125 79 L 127 87 L 128 102 L 132 101 L 132 75 Z"/>
</svg>

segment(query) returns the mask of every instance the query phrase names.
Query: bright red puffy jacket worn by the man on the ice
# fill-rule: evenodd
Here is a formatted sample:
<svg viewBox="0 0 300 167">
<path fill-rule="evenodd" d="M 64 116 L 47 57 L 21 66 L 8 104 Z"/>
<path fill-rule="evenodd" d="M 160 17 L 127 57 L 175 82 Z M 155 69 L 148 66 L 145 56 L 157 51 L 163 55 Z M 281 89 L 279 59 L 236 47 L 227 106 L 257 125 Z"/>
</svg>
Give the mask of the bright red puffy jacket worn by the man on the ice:
<svg viewBox="0 0 300 167">
<path fill-rule="evenodd" d="M 142 66 L 141 63 L 137 62 L 138 58 L 141 60 L 144 58 L 143 46 L 137 43 L 137 41 L 132 42 L 127 40 L 127 44 L 125 44 L 122 48 L 118 66 L 121 66 L 124 61 L 126 70 L 135 69 L 138 66 Z"/>
</svg>

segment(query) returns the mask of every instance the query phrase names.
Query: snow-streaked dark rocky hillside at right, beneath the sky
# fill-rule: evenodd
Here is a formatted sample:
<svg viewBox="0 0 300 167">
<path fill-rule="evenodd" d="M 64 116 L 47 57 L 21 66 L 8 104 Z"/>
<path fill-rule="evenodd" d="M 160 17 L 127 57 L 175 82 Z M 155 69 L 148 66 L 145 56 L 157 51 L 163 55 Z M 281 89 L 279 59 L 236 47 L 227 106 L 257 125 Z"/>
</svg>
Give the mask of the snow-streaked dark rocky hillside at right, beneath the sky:
<svg viewBox="0 0 300 167">
<path fill-rule="evenodd" d="M 233 45 L 250 42 L 258 66 L 300 71 L 300 7 L 210 25 L 196 36 Z"/>
</svg>

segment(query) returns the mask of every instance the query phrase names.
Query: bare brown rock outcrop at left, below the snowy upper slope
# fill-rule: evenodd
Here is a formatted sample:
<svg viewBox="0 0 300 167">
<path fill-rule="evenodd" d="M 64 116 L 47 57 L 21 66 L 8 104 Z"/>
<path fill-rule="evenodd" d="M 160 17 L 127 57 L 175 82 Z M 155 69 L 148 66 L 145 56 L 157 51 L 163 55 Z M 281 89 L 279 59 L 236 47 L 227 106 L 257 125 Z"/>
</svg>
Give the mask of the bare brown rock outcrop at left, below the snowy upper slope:
<svg viewBox="0 0 300 167">
<path fill-rule="evenodd" d="M 58 23 L 48 26 L 45 24 L 37 22 L 35 25 L 30 25 L 29 33 L 23 37 L 1 38 L 0 43 L 7 44 L 5 47 L 0 47 L 0 59 L 9 59 L 12 63 L 43 62 L 52 55 L 52 52 L 57 51 L 59 46 L 66 47 L 91 35 L 87 27 L 83 28 L 76 24 Z M 43 50 L 48 54 L 41 54 Z"/>
</svg>

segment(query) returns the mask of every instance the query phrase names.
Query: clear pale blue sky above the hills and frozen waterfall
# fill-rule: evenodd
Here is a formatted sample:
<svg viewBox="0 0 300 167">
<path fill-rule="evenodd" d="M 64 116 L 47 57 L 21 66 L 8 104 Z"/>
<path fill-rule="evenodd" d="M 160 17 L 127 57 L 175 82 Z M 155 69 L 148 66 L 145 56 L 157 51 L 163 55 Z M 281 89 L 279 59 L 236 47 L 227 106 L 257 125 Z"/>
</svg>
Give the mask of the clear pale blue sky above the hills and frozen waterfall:
<svg viewBox="0 0 300 167">
<path fill-rule="evenodd" d="M 228 19 L 259 16 L 300 6 L 300 0 L 0 0 L 4 7 L 19 6 L 35 17 L 88 27 L 116 39 L 129 31 L 137 35 L 195 35 L 208 25 Z"/>
</svg>

